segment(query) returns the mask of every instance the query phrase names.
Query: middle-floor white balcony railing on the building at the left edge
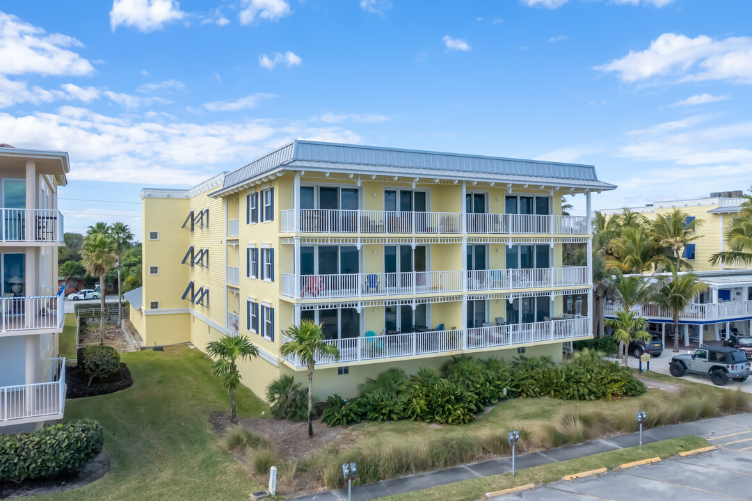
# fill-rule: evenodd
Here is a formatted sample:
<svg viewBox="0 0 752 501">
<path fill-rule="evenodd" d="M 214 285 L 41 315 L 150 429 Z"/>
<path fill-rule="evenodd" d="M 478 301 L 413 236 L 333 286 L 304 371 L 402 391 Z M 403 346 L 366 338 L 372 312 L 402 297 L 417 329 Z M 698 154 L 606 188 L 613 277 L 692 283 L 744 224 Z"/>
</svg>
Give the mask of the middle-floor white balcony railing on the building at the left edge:
<svg viewBox="0 0 752 501">
<path fill-rule="evenodd" d="M 62 329 L 65 306 L 62 291 L 56 296 L 0 298 L 0 332 Z"/>
</svg>

